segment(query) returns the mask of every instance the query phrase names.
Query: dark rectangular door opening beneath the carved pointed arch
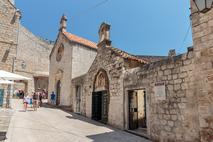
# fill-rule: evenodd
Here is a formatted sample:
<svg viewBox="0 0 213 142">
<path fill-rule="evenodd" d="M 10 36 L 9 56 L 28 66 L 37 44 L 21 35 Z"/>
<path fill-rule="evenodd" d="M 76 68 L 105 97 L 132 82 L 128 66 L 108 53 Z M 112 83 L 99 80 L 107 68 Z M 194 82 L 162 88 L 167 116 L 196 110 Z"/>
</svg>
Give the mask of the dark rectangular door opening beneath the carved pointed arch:
<svg viewBox="0 0 213 142">
<path fill-rule="evenodd" d="M 108 121 L 108 93 L 107 91 L 93 92 L 92 119 L 107 123 Z"/>
</svg>

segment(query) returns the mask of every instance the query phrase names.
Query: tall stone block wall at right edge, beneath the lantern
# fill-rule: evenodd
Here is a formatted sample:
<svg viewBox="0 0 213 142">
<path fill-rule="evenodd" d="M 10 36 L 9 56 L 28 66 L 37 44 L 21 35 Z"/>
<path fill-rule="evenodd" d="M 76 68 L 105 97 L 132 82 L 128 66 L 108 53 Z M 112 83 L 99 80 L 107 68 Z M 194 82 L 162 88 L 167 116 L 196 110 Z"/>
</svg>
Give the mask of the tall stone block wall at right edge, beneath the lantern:
<svg viewBox="0 0 213 142">
<path fill-rule="evenodd" d="M 195 49 L 195 94 L 202 142 L 213 141 L 213 9 L 197 13 L 193 1 L 192 32 Z"/>
</svg>

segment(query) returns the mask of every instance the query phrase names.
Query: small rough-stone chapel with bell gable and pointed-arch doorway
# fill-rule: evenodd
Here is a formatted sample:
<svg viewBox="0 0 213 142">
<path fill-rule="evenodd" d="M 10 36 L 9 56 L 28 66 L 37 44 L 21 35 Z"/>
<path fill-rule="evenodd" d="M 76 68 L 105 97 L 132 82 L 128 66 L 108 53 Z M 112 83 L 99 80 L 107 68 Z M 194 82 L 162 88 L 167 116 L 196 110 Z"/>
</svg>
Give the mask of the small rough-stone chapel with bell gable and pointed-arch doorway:
<svg viewBox="0 0 213 142">
<path fill-rule="evenodd" d="M 124 73 L 165 57 L 128 54 L 111 46 L 109 34 L 110 25 L 103 23 L 94 62 L 86 75 L 72 80 L 72 102 L 74 112 L 79 110 L 80 103 L 81 114 L 124 129 Z"/>
</svg>

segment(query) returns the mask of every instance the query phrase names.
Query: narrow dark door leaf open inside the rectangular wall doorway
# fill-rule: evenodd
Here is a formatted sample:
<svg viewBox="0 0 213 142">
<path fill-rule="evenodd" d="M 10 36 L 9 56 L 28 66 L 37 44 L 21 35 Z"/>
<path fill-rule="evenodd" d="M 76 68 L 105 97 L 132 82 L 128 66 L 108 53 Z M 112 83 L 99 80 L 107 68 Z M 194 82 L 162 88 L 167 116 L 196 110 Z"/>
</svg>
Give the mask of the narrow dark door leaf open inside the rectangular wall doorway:
<svg viewBox="0 0 213 142">
<path fill-rule="evenodd" d="M 129 129 L 134 130 L 138 128 L 138 104 L 137 92 L 129 92 Z"/>
</svg>

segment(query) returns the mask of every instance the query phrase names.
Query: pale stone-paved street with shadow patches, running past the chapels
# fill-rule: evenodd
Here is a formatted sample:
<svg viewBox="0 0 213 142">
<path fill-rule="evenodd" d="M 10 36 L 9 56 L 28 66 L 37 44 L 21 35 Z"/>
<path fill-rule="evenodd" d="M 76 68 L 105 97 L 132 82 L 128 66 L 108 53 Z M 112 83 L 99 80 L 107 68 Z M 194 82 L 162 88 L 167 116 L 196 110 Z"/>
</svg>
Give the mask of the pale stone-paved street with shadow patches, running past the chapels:
<svg viewBox="0 0 213 142">
<path fill-rule="evenodd" d="M 148 142 L 59 109 L 23 112 L 21 100 L 13 100 L 13 108 L 6 142 Z"/>
</svg>

